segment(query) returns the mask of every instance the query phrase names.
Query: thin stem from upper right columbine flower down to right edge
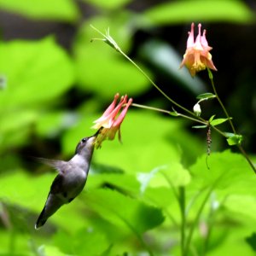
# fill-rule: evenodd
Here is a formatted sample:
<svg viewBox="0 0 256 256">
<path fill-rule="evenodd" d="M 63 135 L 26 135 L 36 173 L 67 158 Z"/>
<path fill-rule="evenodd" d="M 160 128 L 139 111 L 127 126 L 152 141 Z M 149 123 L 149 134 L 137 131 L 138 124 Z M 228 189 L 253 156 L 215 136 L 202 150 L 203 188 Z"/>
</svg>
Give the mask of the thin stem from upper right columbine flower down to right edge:
<svg viewBox="0 0 256 256">
<path fill-rule="evenodd" d="M 227 109 L 224 107 L 223 102 L 221 101 L 221 99 L 218 96 L 218 92 L 217 92 L 217 90 L 215 88 L 215 84 L 213 82 L 212 72 L 210 71 L 210 69 L 208 67 L 207 67 L 207 71 L 208 71 L 209 79 L 210 79 L 211 84 L 212 84 L 212 90 L 213 90 L 215 96 L 217 97 L 218 103 L 220 104 L 221 108 L 223 109 L 224 114 L 226 115 L 227 119 L 229 119 L 230 126 L 231 126 L 231 129 L 232 129 L 233 133 L 237 134 L 235 125 L 233 124 L 232 119 L 230 119 L 230 115 L 229 115 Z M 248 164 L 252 167 L 253 172 L 256 174 L 256 167 L 253 165 L 252 160 L 250 160 L 250 158 L 248 157 L 248 155 L 247 155 L 246 151 L 244 150 L 244 148 L 242 148 L 240 144 L 238 144 L 236 146 L 237 146 L 237 148 L 239 148 L 241 154 L 243 154 L 243 156 L 247 160 Z"/>
</svg>

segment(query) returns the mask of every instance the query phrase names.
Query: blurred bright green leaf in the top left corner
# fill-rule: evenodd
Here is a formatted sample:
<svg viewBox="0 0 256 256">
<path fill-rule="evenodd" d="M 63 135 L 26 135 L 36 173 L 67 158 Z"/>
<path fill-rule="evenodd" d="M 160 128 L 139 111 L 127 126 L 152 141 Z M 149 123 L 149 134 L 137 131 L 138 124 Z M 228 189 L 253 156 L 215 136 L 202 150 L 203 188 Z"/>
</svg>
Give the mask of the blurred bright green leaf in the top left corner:
<svg viewBox="0 0 256 256">
<path fill-rule="evenodd" d="M 72 0 L 0 0 L 0 8 L 34 20 L 62 20 L 74 22 L 79 10 Z"/>
</svg>

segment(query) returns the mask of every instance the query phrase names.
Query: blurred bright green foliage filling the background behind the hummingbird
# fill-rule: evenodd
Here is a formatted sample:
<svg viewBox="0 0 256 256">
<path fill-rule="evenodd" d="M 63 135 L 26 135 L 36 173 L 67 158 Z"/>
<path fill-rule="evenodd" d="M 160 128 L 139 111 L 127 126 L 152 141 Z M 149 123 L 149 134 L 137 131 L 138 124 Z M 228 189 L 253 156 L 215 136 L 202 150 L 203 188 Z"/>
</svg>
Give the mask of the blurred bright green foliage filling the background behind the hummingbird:
<svg viewBox="0 0 256 256">
<path fill-rule="evenodd" d="M 230 151 L 207 156 L 206 142 L 187 131 L 188 123 L 132 108 L 123 144 L 103 143 L 82 194 L 34 230 L 55 173 L 27 156 L 70 157 L 116 92 L 165 106 L 147 96 L 148 81 L 129 62 L 102 42 L 90 43 L 97 37 L 90 24 L 109 27 L 129 53 L 142 27 L 253 21 L 242 1 L 166 2 L 144 13 L 127 9 L 127 0 L 84 3 L 97 12 L 81 20 L 71 0 L 0 0 L 0 9 L 26 19 L 76 26 L 69 52 L 53 35 L 0 42 L 0 255 L 182 255 L 183 231 L 192 239 L 185 240 L 186 255 L 254 255 L 256 177 L 246 160 Z M 173 67 L 174 49 L 148 45 L 143 55 L 189 91 L 204 92 L 200 79 Z M 161 61 L 163 49 L 172 61 Z"/>
</svg>

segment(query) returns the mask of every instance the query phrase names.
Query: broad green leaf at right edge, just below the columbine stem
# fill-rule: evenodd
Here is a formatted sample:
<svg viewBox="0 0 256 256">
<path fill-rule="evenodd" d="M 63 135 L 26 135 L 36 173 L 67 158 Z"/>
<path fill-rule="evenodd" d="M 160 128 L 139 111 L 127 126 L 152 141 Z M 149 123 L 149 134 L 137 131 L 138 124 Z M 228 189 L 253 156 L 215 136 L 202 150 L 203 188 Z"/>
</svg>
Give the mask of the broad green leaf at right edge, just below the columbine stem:
<svg viewBox="0 0 256 256">
<path fill-rule="evenodd" d="M 218 193 L 239 193 L 240 195 L 254 195 L 256 187 L 256 176 L 253 170 L 241 154 L 233 154 L 230 151 L 212 153 L 207 157 L 209 169 L 207 168 L 206 155 L 202 155 L 190 167 L 194 177 L 193 185 L 197 188 L 205 188 L 216 183 Z M 221 193 L 220 193 L 221 192 Z"/>
</svg>

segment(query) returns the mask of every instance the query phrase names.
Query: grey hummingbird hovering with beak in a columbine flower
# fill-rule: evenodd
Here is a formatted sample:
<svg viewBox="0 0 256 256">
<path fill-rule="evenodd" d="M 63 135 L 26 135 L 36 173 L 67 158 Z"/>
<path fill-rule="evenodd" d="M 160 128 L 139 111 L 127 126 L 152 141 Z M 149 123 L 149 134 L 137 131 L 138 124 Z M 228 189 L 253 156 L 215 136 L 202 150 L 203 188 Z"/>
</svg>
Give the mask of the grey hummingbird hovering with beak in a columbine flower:
<svg viewBox="0 0 256 256">
<path fill-rule="evenodd" d="M 42 227 L 60 207 L 73 201 L 84 189 L 94 144 L 100 130 L 91 137 L 82 138 L 76 147 L 73 158 L 69 161 L 39 158 L 41 162 L 54 167 L 59 173 L 51 184 L 44 209 L 35 224 L 36 230 Z"/>
</svg>

